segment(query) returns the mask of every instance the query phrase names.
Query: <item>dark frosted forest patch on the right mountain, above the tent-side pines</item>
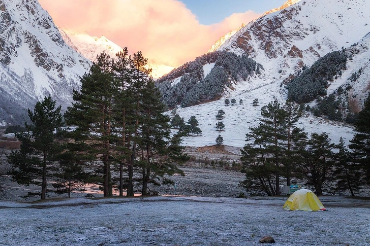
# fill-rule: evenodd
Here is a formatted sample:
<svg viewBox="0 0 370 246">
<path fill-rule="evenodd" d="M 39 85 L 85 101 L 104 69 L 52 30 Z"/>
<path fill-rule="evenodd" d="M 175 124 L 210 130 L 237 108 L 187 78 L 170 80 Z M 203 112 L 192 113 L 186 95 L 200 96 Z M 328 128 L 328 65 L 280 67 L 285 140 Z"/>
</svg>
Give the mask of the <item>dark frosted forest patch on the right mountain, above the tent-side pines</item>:
<svg viewBox="0 0 370 246">
<path fill-rule="evenodd" d="M 325 96 L 328 81 L 341 76 L 347 69 L 345 50 L 333 51 L 318 59 L 310 68 L 305 66 L 303 72 L 288 85 L 288 98 L 298 103 L 310 102 L 317 96 Z"/>
</svg>

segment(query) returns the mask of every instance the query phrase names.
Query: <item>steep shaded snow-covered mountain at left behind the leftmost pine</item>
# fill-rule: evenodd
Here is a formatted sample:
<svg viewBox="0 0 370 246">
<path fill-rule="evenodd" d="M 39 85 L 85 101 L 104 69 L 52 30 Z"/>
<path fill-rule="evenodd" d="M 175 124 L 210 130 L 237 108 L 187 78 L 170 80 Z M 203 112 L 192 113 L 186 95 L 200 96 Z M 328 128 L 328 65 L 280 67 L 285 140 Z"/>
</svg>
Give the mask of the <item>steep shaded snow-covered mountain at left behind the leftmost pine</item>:
<svg viewBox="0 0 370 246">
<path fill-rule="evenodd" d="M 1 0 L 0 12 L 0 122 L 24 121 L 48 94 L 66 108 L 90 61 L 63 41 L 37 0 Z"/>
</svg>

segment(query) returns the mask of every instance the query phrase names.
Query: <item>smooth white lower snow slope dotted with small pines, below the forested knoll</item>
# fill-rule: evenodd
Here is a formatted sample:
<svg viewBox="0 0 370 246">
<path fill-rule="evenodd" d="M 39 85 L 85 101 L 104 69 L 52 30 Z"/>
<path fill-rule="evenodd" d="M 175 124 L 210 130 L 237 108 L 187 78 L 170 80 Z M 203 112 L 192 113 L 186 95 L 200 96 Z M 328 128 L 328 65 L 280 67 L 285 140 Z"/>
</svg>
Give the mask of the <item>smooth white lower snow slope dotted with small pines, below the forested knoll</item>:
<svg viewBox="0 0 370 246">
<path fill-rule="evenodd" d="M 261 81 L 263 83 L 263 81 Z M 284 102 L 287 91 L 279 84 L 272 83 L 258 89 L 251 89 L 242 92 L 231 91 L 230 94 L 220 100 L 200 104 L 188 108 L 178 108 L 177 114 L 187 122 L 190 116 L 195 116 L 199 121 L 199 128 L 202 130 L 201 136 L 188 136 L 184 138 L 183 145 L 186 146 L 209 146 L 215 144 L 215 139 L 220 134 L 224 138 L 224 144 L 234 147 L 243 147 L 245 134 L 249 132 L 249 127 L 255 127 L 261 119 L 261 108 L 271 102 L 275 97 Z M 235 98 L 234 106 L 225 106 L 224 100 Z M 259 100 L 259 106 L 253 107 L 252 102 L 255 98 Z M 239 104 L 239 100 L 243 104 Z M 215 125 L 219 120 L 216 115 L 219 110 L 225 111 L 225 118 L 222 122 L 225 125 L 224 131 L 217 131 Z M 353 127 L 341 122 L 328 121 L 318 118 L 312 113 L 305 112 L 298 122 L 298 127 L 304 128 L 308 133 L 326 132 L 333 143 L 338 143 L 341 137 L 346 143 L 353 138 Z M 175 132 L 176 130 L 173 130 Z M 309 134 L 310 136 L 310 134 Z"/>
</svg>

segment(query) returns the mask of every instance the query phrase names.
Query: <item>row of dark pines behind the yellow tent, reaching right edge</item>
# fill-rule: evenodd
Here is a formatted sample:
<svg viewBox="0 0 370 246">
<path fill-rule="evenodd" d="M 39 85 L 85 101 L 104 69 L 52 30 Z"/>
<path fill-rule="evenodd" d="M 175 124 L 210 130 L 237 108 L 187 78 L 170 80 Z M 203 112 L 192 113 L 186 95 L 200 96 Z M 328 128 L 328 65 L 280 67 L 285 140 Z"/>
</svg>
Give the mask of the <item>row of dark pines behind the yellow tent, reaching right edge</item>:
<svg viewBox="0 0 370 246">
<path fill-rule="evenodd" d="M 287 185 L 304 180 L 318 195 L 324 191 L 348 190 L 352 196 L 370 185 L 370 96 L 358 115 L 357 133 L 347 147 L 331 143 L 325 133 L 309 137 L 296 126 L 301 111 L 298 104 L 276 99 L 261 109 L 262 119 L 246 134 L 248 144 L 241 150 L 241 185 L 267 195 L 280 195 L 281 180 Z M 350 150 L 348 150 L 348 148 Z"/>
</svg>

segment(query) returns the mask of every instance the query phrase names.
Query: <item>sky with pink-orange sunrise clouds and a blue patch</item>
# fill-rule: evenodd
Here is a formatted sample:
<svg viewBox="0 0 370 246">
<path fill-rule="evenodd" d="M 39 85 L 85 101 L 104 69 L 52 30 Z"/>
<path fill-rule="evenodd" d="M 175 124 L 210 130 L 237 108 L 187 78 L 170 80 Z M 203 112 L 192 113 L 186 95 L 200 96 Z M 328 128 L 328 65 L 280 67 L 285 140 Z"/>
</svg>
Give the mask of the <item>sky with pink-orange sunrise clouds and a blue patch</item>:
<svg viewBox="0 0 370 246">
<path fill-rule="evenodd" d="M 56 25 L 177 67 L 286 0 L 39 0 Z M 232 4 L 230 4 L 232 3 Z"/>
</svg>

